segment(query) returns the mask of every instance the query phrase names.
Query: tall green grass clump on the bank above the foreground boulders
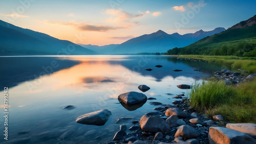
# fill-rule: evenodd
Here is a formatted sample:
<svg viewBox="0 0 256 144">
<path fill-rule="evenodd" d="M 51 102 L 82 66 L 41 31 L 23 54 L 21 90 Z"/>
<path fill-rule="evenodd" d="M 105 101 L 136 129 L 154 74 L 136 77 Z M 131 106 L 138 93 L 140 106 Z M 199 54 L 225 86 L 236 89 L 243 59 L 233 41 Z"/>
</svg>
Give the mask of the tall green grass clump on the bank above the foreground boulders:
<svg viewBox="0 0 256 144">
<path fill-rule="evenodd" d="M 256 123 L 256 80 L 227 86 L 222 81 L 195 84 L 190 105 L 210 116 L 221 114 L 231 123 Z"/>
</svg>

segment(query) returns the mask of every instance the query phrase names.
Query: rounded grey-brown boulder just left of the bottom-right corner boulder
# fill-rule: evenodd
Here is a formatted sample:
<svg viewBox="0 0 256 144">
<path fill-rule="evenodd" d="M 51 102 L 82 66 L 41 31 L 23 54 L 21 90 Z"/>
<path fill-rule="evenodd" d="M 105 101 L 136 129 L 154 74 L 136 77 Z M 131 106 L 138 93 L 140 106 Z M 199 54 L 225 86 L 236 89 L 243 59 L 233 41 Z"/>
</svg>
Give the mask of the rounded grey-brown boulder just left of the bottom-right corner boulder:
<svg viewBox="0 0 256 144">
<path fill-rule="evenodd" d="M 184 140 L 190 138 L 197 138 L 200 136 L 200 133 L 193 127 L 188 125 L 182 125 L 176 131 L 174 137 L 183 137 Z"/>
</svg>

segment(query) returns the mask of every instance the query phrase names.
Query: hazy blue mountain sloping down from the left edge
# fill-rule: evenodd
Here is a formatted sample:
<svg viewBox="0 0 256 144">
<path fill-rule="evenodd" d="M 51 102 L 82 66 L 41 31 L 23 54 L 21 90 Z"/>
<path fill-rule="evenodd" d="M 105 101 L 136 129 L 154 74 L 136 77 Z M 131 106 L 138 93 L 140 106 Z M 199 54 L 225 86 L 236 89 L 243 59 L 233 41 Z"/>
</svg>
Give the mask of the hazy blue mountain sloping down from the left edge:
<svg viewBox="0 0 256 144">
<path fill-rule="evenodd" d="M 0 55 L 2 56 L 88 54 L 96 54 L 96 52 L 68 40 L 60 40 L 0 20 Z"/>
</svg>

